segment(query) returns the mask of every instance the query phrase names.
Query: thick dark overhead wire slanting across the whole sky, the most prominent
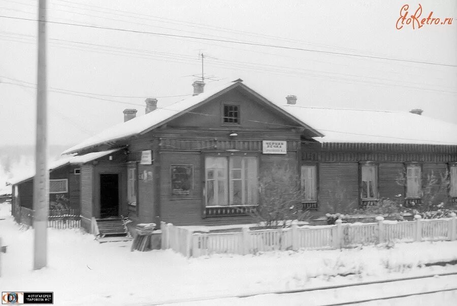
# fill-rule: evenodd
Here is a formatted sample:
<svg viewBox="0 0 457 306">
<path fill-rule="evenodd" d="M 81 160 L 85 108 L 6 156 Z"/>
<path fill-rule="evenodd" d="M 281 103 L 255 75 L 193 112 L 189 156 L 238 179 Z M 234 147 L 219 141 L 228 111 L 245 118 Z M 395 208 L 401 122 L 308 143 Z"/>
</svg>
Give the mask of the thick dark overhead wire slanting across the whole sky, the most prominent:
<svg viewBox="0 0 457 306">
<path fill-rule="evenodd" d="M 4 15 L 0 15 L 0 18 L 9 18 L 9 19 L 26 20 L 26 21 L 40 21 L 38 19 L 12 17 L 12 16 L 4 16 Z M 298 51 L 315 52 L 315 53 L 323 53 L 323 54 L 345 55 L 345 56 L 353 56 L 353 57 L 361 57 L 361 58 L 374 58 L 374 59 L 384 59 L 384 60 L 393 60 L 393 61 L 428 64 L 428 65 L 457 67 L 457 65 L 445 64 L 445 63 L 435 63 L 435 62 L 416 61 L 416 60 L 399 59 L 399 58 L 389 58 L 389 57 L 380 57 L 380 56 L 371 56 L 371 55 L 351 54 L 351 53 L 343 53 L 343 52 L 322 51 L 322 50 L 313 50 L 313 49 L 297 48 L 297 47 L 287 47 L 287 46 L 278 46 L 278 45 L 249 43 L 249 42 L 241 42 L 241 41 L 234 41 L 234 40 L 212 39 L 212 38 L 194 37 L 194 36 L 177 35 L 177 34 L 169 34 L 169 33 L 160 33 L 160 32 L 133 30 L 133 29 L 114 28 L 114 27 L 107 27 L 107 26 L 76 24 L 76 23 L 69 23 L 69 22 L 58 22 L 58 21 L 49 21 L 49 20 L 47 20 L 46 22 L 47 23 L 54 23 L 54 24 L 70 25 L 70 26 L 87 27 L 87 28 L 116 30 L 116 31 L 122 31 L 122 32 L 140 33 L 140 34 L 150 34 L 150 35 L 164 36 L 164 37 L 188 38 L 188 39 L 195 39 L 195 40 L 215 41 L 215 42 L 222 42 L 222 43 L 232 43 L 232 44 L 260 46 L 260 47 L 270 47 L 270 48 L 287 49 L 287 50 L 298 50 Z"/>
</svg>

